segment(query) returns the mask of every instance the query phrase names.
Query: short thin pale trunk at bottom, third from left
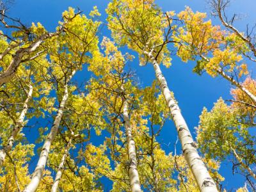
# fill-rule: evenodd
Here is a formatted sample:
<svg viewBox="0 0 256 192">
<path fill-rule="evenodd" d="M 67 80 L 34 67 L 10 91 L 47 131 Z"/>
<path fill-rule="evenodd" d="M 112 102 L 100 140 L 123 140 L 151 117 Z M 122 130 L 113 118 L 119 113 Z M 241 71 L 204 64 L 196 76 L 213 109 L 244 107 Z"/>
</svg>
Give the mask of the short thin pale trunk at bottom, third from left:
<svg viewBox="0 0 256 192">
<path fill-rule="evenodd" d="M 66 158 L 68 156 L 68 150 L 71 147 L 72 139 L 73 139 L 73 137 L 71 137 L 70 140 L 68 141 L 68 145 L 65 148 L 64 154 L 61 158 L 61 161 L 60 161 L 60 164 L 59 164 L 59 167 L 58 167 L 58 171 L 56 173 L 56 177 L 55 177 L 54 182 L 52 184 L 51 192 L 56 192 L 57 189 L 58 189 L 58 185 L 59 185 L 61 175 L 62 175 L 62 172 L 63 172 L 63 167 L 64 167 L 64 164 L 65 164 Z"/>
</svg>

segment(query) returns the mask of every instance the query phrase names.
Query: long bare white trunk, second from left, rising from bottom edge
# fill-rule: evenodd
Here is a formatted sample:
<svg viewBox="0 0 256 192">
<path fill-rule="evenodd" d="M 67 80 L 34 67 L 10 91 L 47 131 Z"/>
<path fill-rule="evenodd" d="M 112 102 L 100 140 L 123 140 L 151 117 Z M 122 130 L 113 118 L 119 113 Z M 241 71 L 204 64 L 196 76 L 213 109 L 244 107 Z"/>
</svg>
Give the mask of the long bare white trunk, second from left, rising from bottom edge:
<svg viewBox="0 0 256 192">
<path fill-rule="evenodd" d="M 63 116 L 63 109 L 65 107 L 65 104 L 68 99 L 68 81 L 72 78 L 72 76 L 75 74 L 76 71 L 73 71 L 72 74 L 69 76 L 68 80 L 65 83 L 64 86 L 64 95 L 62 97 L 60 107 L 58 109 L 57 116 L 55 117 L 54 123 L 51 128 L 51 132 L 48 134 L 44 145 L 42 147 L 42 151 L 38 160 L 38 163 L 36 165 L 35 171 L 33 173 L 32 179 L 29 182 L 28 186 L 26 189 L 24 189 L 24 192 L 34 192 L 38 188 L 39 182 L 42 179 L 44 168 L 47 162 L 47 158 L 49 155 L 49 150 L 52 144 L 52 141 L 56 137 L 56 134 L 58 132 L 58 128 L 60 126 L 61 118 Z"/>
</svg>

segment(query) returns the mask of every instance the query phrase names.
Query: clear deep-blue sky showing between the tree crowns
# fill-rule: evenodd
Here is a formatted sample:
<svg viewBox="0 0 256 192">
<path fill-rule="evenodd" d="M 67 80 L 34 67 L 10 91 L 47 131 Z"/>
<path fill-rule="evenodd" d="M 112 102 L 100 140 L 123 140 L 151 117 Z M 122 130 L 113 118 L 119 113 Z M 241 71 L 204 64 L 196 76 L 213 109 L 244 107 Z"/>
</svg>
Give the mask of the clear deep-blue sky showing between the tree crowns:
<svg viewBox="0 0 256 192">
<path fill-rule="evenodd" d="M 88 14 L 92 10 L 93 6 L 97 5 L 100 13 L 102 14 L 102 20 L 104 22 L 106 19 L 105 9 L 109 1 L 106 0 L 15 0 L 13 5 L 9 10 L 9 15 L 20 18 L 22 22 L 26 24 L 31 24 L 31 22 L 41 22 L 46 29 L 49 31 L 54 31 L 58 25 L 58 20 L 61 19 L 61 13 L 67 10 L 68 6 L 74 8 L 79 7 L 84 14 Z M 236 22 L 236 27 L 243 30 L 246 24 L 255 23 L 255 0 L 243 0 L 232 1 L 232 6 L 230 6 L 230 13 L 236 12 L 241 13 L 242 20 Z M 207 12 L 211 13 L 209 5 L 204 0 L 156 0 L 156 3 L 163 8 L 163 10 L 175 10 L 175 12 L 180 12 L 185 6 L 189 6 L 193 11 Z M 211 18 L 214 24 L 218 24 L 218 19 Z M 110 33 L 106 26 L 102 29 L 100 33 L 100 39 L 102 36 L 110 36 Z M 127 50 L 126 50 L 127 51 Z M 173 57 L 172 67 L 166 69 L 163 68 L 163 74 L 166 77 L 170 89 L 175 93 L 175 98 L 179 102 L 179 106 L 182 110 L 182 114 L 189 125 L 189 129 L 193 132 L 195 138 L 195 129 L 198 125 L 199 115 L 204 108 L 211 109 L 213 103 L 216 102 L 220 97 L 223 99 L 230 99 L 230 83 L 225 81 L 220 77 L 212 78 L 207 74 L 203 76 L 198 76 L 192 72 L 193 67 L 195 67 L 195 62 L 182 63 L 179 58 Z M 136 70 L 137 76 L 140 78 L 143 86 L 148 86 L 155 79 L 154 70 L 152 65 L 147 65 L 145 67 L 140 67 L 138 65 L 138 60 L 134 60 L 131 63 L 132 69 Z M 255 67 L 250 66 L 250 70 L 255 70 Z M 84 74 L 85 73 L 85 74 Z M 253 72 L 252 72 L 252 75 Z M 90 78 L 90 74 L 86 76 L 86 72 L 79 72 L 76 75 L 77 81 L 84 81 Z M 40 124 L 46 125 L 45 122 L 38 121 Z M 31 122 L 29 123 L 31 125 Z M 42 125 L 41 125 L 42 126 Z M 33 129 L 33 130 L 32 130 Z M 30 142 L 34 142 L 36 136 L 36 128 L 29 129 L 28 138 Z M 29 136 L 30 134 L 30 136 Z M 104 138 L 104 136 L 102 136 Z M 177 133 L 172 122 L 167 122 L 164 127 L 159 141 L 163 143 L 170 143 L 170 147 L 164 147 L 166 152 L 173 150 L 173 143 L 177 138 Z M 100 140 L 93 140 L 93 144 L 99 145 L 103 142 Z M 37 162 L 37 157 L 33 158 L 33 163 L 29 167 L 30 170 L 35 168 Z M 225 177 L 224 186 L 227 189 L 234 189 L 243 186 L 244 180 L 239 176 L 232 175 L 232 167 L 230 164 L 221 164 L 220 173 Z M 106 184 L 109 182 L 106 181 Z M 106 191 L 110 189 L 106 188 Z"/>
</svg>

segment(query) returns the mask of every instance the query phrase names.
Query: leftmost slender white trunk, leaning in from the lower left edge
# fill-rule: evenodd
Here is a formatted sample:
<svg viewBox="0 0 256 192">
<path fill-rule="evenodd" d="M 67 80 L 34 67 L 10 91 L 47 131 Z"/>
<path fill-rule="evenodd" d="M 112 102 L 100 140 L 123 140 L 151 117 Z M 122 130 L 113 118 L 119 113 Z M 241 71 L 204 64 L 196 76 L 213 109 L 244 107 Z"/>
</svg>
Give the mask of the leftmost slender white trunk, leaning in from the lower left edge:
<svg viewBox="0 0 256 192">
<path fill-rule="evenodd" d="M 8 153 L 8 152 L 10 152 L 10 150 L 12 150 L 13 143 L 14 143 L 14 140 L 15 140 L 17 134 L 19 133 L 20 129 L 24 126 L 24 118 L 28 111 L 28 102 L 32 98 L 32 93 L 33 93 L 33 86 L 31 84 L 29 84 L 28 96 L 23 104 L 23 109 L 20 113 L 19 119 L 15 123 L 15 126 L 12 130 L 12 135 L 8 139 L 7 145 L 5 145 L 2 150 L 0 150 L 0 167 L 3 165 L 3 161 L 5 159 L 6 153 Z"/>
</svg>

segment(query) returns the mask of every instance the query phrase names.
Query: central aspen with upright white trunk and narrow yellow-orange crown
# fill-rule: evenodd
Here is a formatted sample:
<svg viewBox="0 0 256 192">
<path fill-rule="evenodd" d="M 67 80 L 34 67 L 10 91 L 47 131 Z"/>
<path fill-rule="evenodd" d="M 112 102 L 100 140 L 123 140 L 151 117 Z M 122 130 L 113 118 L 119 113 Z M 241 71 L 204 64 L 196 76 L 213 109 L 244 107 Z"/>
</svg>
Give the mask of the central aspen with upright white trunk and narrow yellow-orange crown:
<svg viewBox="0 0 256 192">
<path fill-rule="evenodd" d="M 137 170 L 138 162 L 136 159 L 136 147 L 132 136 L 132 127 L 129 118 L 129 93 L 125 90 L 125 87 L 131 86 L 130 83 L 125 84 L 125 79 L 129 78 L 129 74 L 126 76 L 124 72 L 125 60 L 131 60 L 132 56 L 123 55 L 118 51 L 117 47 L 108 38 L 104 37 L 102 40 L 102 48 L 104 49 L 105 56 L 102 56 L 99 52 L 95 52 L 95 57 L 92 62 L 98 62 L 98 65 L 92 65 L 90 70 L 95 72 L 98 79 L 103 84 L 93 83 L 94 86 L 100 88 L 100 92 L 104 92 L 104 96 L 100 95 L 100 99 L 106 106 L 106 109 L 111 110 L 111 105 L 114 106 L 114 111 L 118 115 L 123 116 L 124 127 L 126 132 L 127 141 L 127 154 L 129 158 L 129 180 L 131 191 L 141 191 L 139 173 Z M 96 57 L 97 56 L 97 57 Z M 96 87 L 97 87 L 96 86 Z M 131 89 L 131 87 L 129 88 Z M 97 91 L 99 92 L 99 91 Z M 109 97 L 109 100 L 104 99 Z M 110 102 L 110 103 L 109 103 Z M 113 104 L 111 104 L 113 102 Z M 122 110 L 122 112 L 120 111 Z"/>
</svg>

